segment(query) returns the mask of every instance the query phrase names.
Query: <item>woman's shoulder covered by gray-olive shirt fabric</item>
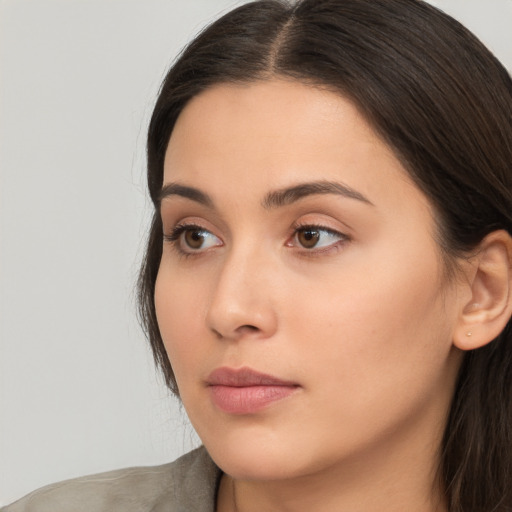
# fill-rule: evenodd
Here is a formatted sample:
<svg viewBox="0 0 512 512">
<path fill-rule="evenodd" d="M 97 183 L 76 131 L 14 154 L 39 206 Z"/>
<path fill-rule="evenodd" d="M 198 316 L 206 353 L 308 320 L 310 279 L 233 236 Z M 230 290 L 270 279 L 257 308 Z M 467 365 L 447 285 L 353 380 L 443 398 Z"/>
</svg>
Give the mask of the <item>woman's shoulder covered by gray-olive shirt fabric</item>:
<svg viewBox="0 0 512 512">
<path fill-rule="evenodd" d="M 201 447 L 170 464 L 43 487 L 1 512 L 213 512 L 220 470 Z"/>
</svg>

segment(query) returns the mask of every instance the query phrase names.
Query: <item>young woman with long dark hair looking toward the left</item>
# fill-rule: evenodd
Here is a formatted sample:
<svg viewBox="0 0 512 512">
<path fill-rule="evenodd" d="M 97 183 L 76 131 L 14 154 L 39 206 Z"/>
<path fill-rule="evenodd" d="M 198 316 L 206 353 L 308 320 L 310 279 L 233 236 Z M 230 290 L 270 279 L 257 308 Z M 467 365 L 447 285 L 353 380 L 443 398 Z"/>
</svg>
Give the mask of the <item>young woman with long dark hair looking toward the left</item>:
<svg viewBox="0 0 512 512">
<path fill-rule="evenodd" d="M 142 320 L 204 448 L 18 510 L 512 507 L 512 82 L 418 0 L 259 1 L 167 75 Z"/>
</svg>

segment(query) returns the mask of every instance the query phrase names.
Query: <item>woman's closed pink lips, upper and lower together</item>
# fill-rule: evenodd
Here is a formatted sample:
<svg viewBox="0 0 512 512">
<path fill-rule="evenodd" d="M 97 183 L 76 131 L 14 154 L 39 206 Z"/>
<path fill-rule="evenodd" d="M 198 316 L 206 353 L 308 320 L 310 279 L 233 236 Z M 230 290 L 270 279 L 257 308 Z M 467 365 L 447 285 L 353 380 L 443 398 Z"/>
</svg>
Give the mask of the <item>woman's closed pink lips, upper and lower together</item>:
<svg viewBox="0 0 512 512">
<path fill-rule="evenodd" d="M 218 368 L 206 379 L 212 402 L 228 414 L 254 414 L 294 394 L 299 384 L 251 368 Z"/>
</svg>

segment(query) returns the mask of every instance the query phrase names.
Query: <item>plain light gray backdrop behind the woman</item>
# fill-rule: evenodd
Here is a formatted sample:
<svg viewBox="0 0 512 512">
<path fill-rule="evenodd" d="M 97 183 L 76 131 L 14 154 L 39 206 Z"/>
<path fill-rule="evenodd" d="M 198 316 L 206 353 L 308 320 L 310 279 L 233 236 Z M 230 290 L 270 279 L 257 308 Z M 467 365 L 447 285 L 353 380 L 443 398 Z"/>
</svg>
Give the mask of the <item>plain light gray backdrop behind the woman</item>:
<svg viewBox="0 0 512 512">
<path fill-rule="evenodd" d="M 0 0 L 0 505 L 197 442 L 135 321 L 144 137 L 233 0 Z M 512 69 L 512 0 L 435 0 Z"/>
</svg>

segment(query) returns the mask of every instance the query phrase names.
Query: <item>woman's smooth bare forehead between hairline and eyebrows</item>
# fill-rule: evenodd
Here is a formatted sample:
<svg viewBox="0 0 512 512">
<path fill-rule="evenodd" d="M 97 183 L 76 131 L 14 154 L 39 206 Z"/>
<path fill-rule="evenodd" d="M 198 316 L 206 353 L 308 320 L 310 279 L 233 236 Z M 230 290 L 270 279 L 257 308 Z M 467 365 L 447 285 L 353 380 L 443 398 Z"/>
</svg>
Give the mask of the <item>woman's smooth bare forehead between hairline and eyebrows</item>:
<svg viewBox="0 0 512 512">
<path fill-rule="evenodd" d="M 342 181 L 370 200 L 422 196 L 351 101 L 287 80 L 220 84 L 193 98 L 164 165 L 164 184 L 183 181 L 213 195 L 262 197 L 311 180 Z"/>
</svg>

